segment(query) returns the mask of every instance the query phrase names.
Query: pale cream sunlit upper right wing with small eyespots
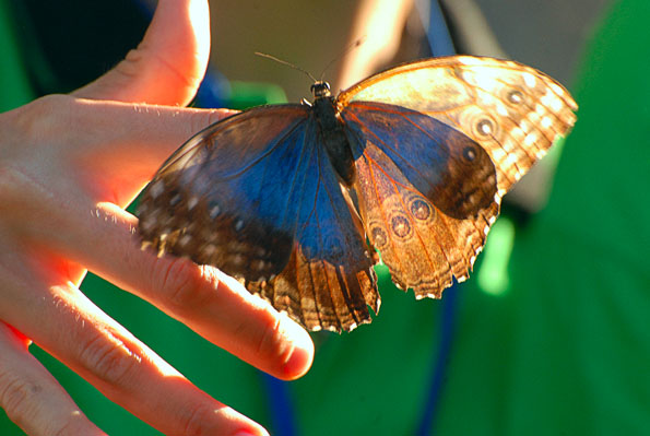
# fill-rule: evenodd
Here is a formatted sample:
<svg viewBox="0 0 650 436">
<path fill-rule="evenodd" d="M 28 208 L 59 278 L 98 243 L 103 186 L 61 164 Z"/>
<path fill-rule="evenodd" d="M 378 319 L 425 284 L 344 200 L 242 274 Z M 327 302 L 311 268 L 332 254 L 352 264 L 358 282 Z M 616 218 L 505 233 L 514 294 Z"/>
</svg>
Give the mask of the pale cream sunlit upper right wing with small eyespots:
<svg viewBox="0 0 650 436">
<path fill-rule="evenodd" d="M 515 61 L 452 56 L 407 63 L 341 93 L 427 114 L 463 132 L 488 153 L 501 197 L 576 121 L 578 106 L 546 74 Z"/>
</svg>

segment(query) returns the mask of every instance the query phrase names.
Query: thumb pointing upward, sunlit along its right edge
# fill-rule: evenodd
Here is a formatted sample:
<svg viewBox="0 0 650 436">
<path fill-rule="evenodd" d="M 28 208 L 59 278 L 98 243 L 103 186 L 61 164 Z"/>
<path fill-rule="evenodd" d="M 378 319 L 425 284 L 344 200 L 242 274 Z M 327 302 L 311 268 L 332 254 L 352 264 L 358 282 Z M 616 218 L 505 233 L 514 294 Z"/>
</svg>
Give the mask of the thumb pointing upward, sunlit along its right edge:
<svg viewBox="0 0 650 436">
<path fill-rule="evenodd" d="M 73 95 L 187 105 L 205 72 L 210 13 L 205 0 L 159 0 L 142 43 L 126 59 Z"/>
</svg>

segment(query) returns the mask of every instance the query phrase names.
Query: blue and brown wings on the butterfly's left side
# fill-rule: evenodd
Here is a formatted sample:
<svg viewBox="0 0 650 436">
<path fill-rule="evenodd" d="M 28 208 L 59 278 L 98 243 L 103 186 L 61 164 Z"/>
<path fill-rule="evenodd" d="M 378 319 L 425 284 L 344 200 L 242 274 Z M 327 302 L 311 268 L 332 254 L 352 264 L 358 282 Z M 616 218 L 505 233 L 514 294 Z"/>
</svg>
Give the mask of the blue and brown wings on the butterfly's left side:
<svg viewBox="0 0 650 436">
<path fill-rule="evenodd" d="M 282 105 L 200 132 L 145 190 L 143 240 L 241 279 L 309 329 L 368 321 L 371 261 L 315 129 L 308 106 Z"/>
</svg>

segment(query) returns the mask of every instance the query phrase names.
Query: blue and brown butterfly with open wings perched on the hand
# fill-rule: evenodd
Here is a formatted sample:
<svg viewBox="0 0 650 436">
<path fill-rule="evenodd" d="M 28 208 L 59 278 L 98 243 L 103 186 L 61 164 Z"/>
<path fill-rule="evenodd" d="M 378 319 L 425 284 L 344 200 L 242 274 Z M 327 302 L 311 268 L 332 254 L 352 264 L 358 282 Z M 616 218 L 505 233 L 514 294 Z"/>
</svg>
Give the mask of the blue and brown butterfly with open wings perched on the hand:
<svg viewBox="0 0 650 436">
<path fill-rule="evenodd" d="M 197 133 L 138 212 L 143 246 L 218 268 L 309 330 L 370 322 L 378 262 L 416 298 L 465 280 L 501 197 L 578 108 L 533 68 L 469 56 L 311 91 Z"/>
</svg>

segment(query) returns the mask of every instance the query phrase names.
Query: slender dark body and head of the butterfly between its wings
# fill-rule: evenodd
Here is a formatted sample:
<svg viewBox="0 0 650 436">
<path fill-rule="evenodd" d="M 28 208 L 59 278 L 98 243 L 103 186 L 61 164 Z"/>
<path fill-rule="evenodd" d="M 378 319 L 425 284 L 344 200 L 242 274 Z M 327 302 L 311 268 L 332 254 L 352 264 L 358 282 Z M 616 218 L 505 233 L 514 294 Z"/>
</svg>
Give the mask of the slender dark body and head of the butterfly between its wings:
<svg viewBox="0 0 650 436">
<path fill-rule="evenodd" d="M 336 102 L 330 93 L 328 82 L 316 82 L 311 85 L 314 93 L 312 114 L 316 117 L 318 133 L 322 139 L 328 156 L 336 174 L 351 186 L 354 181 L 354 160 L 347 142 L 343 121 L 339 117 Z"/>
</svg>

